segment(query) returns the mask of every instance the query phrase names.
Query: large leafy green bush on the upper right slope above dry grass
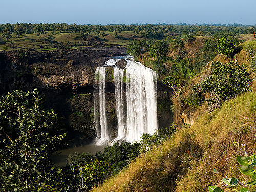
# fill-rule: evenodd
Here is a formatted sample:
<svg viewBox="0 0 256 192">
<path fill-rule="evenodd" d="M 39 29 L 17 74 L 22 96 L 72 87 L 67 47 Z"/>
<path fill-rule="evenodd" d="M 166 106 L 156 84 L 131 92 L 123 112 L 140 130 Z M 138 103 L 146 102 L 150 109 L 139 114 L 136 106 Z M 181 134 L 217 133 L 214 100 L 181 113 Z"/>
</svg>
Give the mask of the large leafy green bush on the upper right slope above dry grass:
<svg viewBox="0 0 256 192">
<path fill-rule="evenodd" d="M 212 74 L 197 84 L 195 90 L 214 92 L 224 101 L 250 90 L 248 83 L 251 79 L 244 65 L 240 66 L 237 62 L 212 62 L 211 67 Z"/>
</svg>

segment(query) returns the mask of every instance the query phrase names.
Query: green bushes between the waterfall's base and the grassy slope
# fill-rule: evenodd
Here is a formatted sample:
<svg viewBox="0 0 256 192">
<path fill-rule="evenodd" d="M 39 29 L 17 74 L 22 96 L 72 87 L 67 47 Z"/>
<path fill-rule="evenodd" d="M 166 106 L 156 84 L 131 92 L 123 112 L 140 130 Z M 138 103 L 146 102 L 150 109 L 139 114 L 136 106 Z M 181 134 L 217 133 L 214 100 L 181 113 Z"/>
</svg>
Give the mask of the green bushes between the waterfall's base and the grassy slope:
<svg viewBox="0 0 256 192">
<path fill-rule="evenodd" d="M 69 167 L 76 182 L 75 189 L 90 190 L 101 184 L 105 179 L 114 176 L 125 168 L 141 153 L 146 153 L 153 146 L 160 145 L 167 136 L 172 135 L 177 129 L 176 124 L 164 129 L 159 129 L 158 134 L 143 134 L 139 143 L 115 143 L 107 146 L 104 152 L 97 152 L 94 156 L 89 153 L 75 153 L 68 157 Z"/>
</svg>

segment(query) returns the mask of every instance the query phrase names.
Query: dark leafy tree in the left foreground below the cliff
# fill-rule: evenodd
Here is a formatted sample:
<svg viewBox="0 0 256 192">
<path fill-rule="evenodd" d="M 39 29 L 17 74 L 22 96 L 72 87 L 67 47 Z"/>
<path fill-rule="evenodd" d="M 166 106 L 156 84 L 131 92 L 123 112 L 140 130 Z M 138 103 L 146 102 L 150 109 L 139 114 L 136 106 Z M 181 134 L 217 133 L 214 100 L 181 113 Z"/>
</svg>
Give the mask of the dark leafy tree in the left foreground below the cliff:
<svg viewBox="0 0 256 192">
<path fill-rule="evenodd" d="M 62 170 L 52 167 L 49 155 L 57 150 L 57 114 L 41 109 L 35 89 L 20 90 L 0 98 L 0 182 L 4 191 L 31 191 L 38 183 L 57 185 Z"/>
</svg>

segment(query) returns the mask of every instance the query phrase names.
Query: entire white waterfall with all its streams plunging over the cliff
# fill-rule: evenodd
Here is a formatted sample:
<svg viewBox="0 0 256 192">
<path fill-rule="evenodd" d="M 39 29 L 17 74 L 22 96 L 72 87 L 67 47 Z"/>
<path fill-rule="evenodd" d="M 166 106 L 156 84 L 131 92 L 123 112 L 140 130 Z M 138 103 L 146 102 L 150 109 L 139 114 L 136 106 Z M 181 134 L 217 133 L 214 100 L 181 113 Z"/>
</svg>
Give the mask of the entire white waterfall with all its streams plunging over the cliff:
<svg viewBox="0 0 256 192">
<path fill-rule="evenodd" d="M 126 58 L 125 69 L 115 63 L 120 59 L 110 59 L 105 66 L 96 69 L 94 89 L 94 122 L 96 126 L 96 144 L 115 142 L 136 142 L 143 133 L 153 134 L 157 128 L 156 73 L 134 59 Z M 106 66 L 114 68 L 116 113 L 118 120 L 117 137 L 110 141 L 105 112 L 105 71 Z M 126 70 L 126 102 L 123 79 Z M 125 111 L 125 105 L 127 110 Z"/>
</svg>

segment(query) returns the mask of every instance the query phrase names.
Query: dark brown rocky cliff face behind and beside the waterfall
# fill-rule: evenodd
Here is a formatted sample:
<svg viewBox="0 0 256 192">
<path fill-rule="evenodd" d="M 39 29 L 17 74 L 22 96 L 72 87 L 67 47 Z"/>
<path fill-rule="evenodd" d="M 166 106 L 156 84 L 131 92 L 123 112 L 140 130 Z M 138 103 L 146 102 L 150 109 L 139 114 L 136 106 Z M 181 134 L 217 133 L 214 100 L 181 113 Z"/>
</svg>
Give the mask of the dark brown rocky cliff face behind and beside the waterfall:
<svg viewBox="0 0 256 192">
<path fill-rule="evenodd" d="M 63 117 L 71 138 L 89 141 L 95 137 L 93 124 L 93 82 L 95 69 L 109 57 L 124 55 L 125 48 L 92 47 L 84 50 L 51 52 L 0 52 L 0 94 L 15 89 L 32 91 L 37 88 L 45 95 L 45 108 L 54 109 Z M 124 65 L 120 61 L 120 65 Z M 159 127 L 167 127 L 173 120 L 169 93 L 158 82 Z M 106 84 L 106 110 L 109 124 L 117 126 L 114 84 Z M 79 141 L 79 142 L 80 142 Z"/>
</svg>

